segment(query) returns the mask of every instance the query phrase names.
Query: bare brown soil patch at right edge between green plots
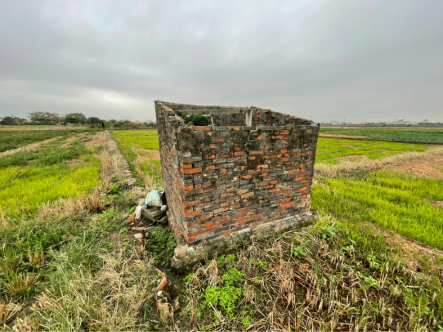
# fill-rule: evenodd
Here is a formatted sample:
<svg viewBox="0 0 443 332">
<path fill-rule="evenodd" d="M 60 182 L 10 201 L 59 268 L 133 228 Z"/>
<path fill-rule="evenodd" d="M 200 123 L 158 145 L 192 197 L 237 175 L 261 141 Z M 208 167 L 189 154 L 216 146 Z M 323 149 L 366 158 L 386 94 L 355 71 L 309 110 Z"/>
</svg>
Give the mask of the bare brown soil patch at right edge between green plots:
<svg viewBox="0 0 443 332">
<path fill-rule="evenodd" d="M 407 172 L 427 178 L 443 180 L 443 156 L 428 156 L 416 160 L 410 160 L 399 165 L 389 166 L 395 172 Z"/>
</svg>

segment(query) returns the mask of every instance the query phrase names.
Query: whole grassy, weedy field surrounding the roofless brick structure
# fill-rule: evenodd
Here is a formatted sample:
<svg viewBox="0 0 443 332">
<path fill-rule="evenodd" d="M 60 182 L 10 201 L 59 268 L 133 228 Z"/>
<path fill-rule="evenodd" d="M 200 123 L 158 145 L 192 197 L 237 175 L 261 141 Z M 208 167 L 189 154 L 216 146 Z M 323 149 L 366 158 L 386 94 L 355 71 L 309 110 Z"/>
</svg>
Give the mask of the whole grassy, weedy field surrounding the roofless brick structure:
<svg viewBox="0 0 443 332">
<path fill-rule="evenodd" d="M 159 185 L 156 132 L 112 135 L 143 183 Z M 443 181 L 383 169 L 393 154 L 426 164 L 442 151 L 321 138 L 320 167 L 356 169 L 316 173 L 312 225 L 175 275 L 170 229 L 148 230 L 143 253 L 140 230 L 121 220 L 137 199 L 118 173 L 115 143 L 100 137 L 0 157 L 2 330 L 443 330 Z M 379 164 L 368 169 L 365 159 Z M 168 292 L 181 311 L 165 321 L 154 264 L 178 286 Z"/>
</svg>

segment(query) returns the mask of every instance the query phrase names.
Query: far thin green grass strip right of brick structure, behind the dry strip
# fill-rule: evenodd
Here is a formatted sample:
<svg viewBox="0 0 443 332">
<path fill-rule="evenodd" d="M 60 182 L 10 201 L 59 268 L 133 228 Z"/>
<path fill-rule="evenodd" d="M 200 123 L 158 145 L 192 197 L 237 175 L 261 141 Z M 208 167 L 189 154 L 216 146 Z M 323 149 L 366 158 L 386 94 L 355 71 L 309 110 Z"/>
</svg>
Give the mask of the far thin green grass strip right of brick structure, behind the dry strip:
<svg viewBox="0 0 443 332">
<path fill-rule="evenodd" d="M 338 164 L 338 158 L 346 156 L 361 156 L 363 158 L 379 159 L 405 151 L 426 151 L 429 145 L 408 144 L 399 142 L 374 142 L 365 140 L 344 140 L 337 138 L 318 138 L 316 163 Z"/>
</svg>

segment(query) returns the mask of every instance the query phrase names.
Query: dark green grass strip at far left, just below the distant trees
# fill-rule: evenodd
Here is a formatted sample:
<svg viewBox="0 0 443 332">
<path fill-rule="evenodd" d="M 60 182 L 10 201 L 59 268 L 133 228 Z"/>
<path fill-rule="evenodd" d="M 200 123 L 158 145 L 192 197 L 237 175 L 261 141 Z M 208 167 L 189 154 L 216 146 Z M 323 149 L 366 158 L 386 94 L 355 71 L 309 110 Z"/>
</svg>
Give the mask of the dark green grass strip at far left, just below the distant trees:
<svg viewBox="0 0 443 332">
<path fill-rule="evenodd" d="M 96 129 L 61 129 L 61 130 L 28 130 L 28 131 L 1 131 L 0 152 L 17 149 L 34 142 L 41 142 L 48 138 L 60 136 L 64 140 L 77 133 L 96 133 Z"/>
</svg>

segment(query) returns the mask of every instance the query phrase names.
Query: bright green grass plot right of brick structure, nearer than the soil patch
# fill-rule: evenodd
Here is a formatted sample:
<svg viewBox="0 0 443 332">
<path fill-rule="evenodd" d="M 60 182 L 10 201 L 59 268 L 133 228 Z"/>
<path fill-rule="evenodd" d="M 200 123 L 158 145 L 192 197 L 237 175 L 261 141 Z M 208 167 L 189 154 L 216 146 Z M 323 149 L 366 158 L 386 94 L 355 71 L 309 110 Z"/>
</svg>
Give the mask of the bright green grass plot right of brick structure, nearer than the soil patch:
<svg viewBox="0 0 443 332">
<path fill-rule="evenodd" d="M 312 207 L 350 221 L 370 221 L 443 250 L 443 181 L 386 170 L 322 179 L 312 190 Z"/>
</svg>

